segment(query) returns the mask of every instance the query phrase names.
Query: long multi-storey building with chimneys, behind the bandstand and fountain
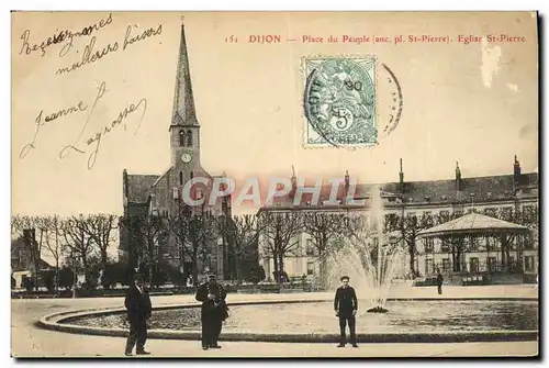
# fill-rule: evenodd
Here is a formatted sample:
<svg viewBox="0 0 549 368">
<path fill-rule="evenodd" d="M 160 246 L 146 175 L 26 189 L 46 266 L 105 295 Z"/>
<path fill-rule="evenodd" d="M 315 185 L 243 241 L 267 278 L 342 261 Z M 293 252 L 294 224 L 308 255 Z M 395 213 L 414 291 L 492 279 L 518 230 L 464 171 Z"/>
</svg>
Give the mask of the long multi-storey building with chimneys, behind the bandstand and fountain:
<svg viewBox="0 0 549 368">
<path fill-rule="evenodd" d="M 322 188 L 320 205 L 311 204 L 311 194 L 303 194 L 301 202 L 294 204 L 292 191 L 274 202 L 272 205 L 264 207 L 259 212 L 317 212 L 336 213 L 349 216 L 372 215 L 372 192 L 381 190 L 382 218 L 384 222 L 391 222 L 397 218 L 416 219 L 417 227 L 411 228 L 410 233 L 417 233 L 437 223 L 444 223 L 459 218 L 468 212 L 475 211 L 504 221 L 524 224 L 531 230 L 531 236 L 517 236 L 513 238 L 509 252 L 502 253 L 500 244 L 494 238 L 473 239 L 473 244 L 466 244 L 466 250 L 460 255 L 461 259 L 456 261 L 448 244 L 439 239 L 415 239 L 414 260 L 411 263 L 410 254 L 399 259 L 397 277 L 410 278 L 411 268 L 414 268 L 415 277 L 429 277 L 437 269 L 444 274 L 481 274 L 492 272 L 523 272 L 536 276 L 539 264 L 539 193 L 538 174 L 523 174 L 520 164 L 515 156 L 513 174 L 500 176 L 485 176 L 462 178 L 461 169 L 456 164 L 456 175 L 449 180 L 432 181 L 405 181 L 402 169 L 399 172 L 400 180 L 380 185 L 358 185 L 351 200 L 365 200 L 363 205 L 351 205 L 346 203 L 347 191 L 350 187 L 350 178 L 347 172 L 345 186 L 337 192 L 338 205 L 325 205 L 330 188 Z M 295 175 L 292 182 L 295 181 Z M 379 189 L 377 189 L 379 188 Z M 408 223 L 410 225 L 410 223 Z M 384 235 L 389 242 L 401 242 L 400 246 L 407 247 L 401 233 L 390 232 Z M 393 236 L 393 233 L 394 236 Z M 410 238 L 408 238 L 410 241 Z M 267 275 L 274 271 L 274 260 L 268 249 L 268 239 L 262 237 L 259 244 L 260 264 Z M 372 238 L 372 244 L 376 239 Z M 469 241 L 466 241 L 466 243 Z M 298 244 L 291 254 L 284 256 L 284 271 L 290 278 L 300 278 L 303 275 L 320 277 L 321 267 L 313 239 L 310 234 L 302 231 L 295 236 Z M 411 266 L 413 264 L 413 266 Z M 271 276 L 272 278 L 272 276 Z"/>
</svg>

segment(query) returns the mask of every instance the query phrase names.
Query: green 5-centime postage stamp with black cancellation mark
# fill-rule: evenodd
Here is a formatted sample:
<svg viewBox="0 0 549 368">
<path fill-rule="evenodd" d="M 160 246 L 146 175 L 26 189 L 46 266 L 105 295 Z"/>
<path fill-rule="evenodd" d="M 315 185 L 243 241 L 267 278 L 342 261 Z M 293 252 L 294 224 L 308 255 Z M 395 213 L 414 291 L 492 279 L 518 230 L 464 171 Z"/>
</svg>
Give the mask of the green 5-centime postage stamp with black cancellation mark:
<svg viewBox="0 0 549 368">
<path fill-rule="evenodd" d="M 378 143 L 376 57 L 304 59 L 304 146 Z"/>
</svg>

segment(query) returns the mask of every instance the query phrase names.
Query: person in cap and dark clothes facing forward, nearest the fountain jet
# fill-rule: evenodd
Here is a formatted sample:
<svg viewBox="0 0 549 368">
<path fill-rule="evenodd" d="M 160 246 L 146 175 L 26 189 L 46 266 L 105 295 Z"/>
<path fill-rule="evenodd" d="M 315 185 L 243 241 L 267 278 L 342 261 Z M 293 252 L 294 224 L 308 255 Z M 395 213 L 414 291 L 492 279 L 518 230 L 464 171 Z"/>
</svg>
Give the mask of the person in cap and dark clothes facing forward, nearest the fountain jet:
<svg viewBox="0 0 549 368">
<path fill-rule="evenodd" d="M 339 345 L 337 347 L 344 347 L 346 344 L 345 328 L 347 324 L 349 325 L 350 332 L 350 343 L 352 347 L 358 347 L 357 345 L 357 334 L 356 334 L 356 320 L 355 315 L 358 310 L 358 300 L 355 289 L 349 286 L 349 277 L 343 276 L 340 278 L 341 286 L 336 290 L 336 298 L 334 300 L 334 310 L 336 311 L 336 316 L 339 317 Z"/>
</svg>

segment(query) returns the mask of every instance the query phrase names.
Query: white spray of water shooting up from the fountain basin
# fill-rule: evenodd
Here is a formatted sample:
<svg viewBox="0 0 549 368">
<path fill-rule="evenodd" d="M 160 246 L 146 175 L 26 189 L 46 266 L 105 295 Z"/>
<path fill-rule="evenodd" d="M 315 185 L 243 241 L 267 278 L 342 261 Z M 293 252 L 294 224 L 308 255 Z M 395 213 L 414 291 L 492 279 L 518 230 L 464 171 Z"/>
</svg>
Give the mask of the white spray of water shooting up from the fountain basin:
<svg viewBox="0 0 549 368">
<path fill-rule="evenodd" d="M 386 298 L 402 266 L 405 249 L 392 244 L 389 234 L 383 233 L 383 202 L 379 187 L 371 191 L 370 199 L 369 215 L 352 219 L 351 234 L 339 239 L 339 250 L 328 261 L 328 278 L 334 286 L 340 276 L 348 275 L 359 300 L 369 302 L 366 312 L 386 313 Z"/>
</svg>

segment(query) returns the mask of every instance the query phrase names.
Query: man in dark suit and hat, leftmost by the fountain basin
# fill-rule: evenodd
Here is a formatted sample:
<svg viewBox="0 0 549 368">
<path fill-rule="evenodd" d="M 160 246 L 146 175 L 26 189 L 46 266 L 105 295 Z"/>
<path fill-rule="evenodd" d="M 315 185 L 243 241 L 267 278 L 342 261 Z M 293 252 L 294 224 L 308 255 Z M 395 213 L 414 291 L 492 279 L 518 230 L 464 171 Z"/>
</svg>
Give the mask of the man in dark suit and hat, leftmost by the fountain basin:
<svg viewBox="0 0 549 368">
<path fill-rule="evenodd" d="M 134 276 L 134 285 L 127 291 L 124 305 L 127 309 L 127 321 L 130 322 L 130 335 L 126 341 L 125 355 L 132 355 L 136 343 L 137 355 L 150 354 L 145 352 L 145 342 L 147 341 L 147 320 L 150 317 L 153 306 L 148 290 L 143 285 L 143 276 Z"/>
</svg>

